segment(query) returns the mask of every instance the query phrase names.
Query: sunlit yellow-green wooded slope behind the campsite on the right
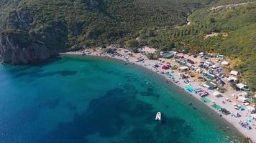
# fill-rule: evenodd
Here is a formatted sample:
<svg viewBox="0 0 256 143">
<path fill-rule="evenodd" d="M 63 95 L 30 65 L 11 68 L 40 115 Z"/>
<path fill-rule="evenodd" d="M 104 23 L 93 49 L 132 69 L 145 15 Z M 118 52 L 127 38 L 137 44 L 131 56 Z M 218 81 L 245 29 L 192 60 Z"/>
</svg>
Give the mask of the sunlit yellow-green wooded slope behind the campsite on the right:
<svg viewBox="0 0 256 143">
<path fill-rule="evenodd" d="M 256 89 L 256 3 L 197 9 L 188 19 L 190 25 L 159 29 L 154 36 L 142 32 L 140 43 L 162 50 L 175 47 L 227 55 L 233 68 L 242 72 L 242 80 Z"/>
</svg>

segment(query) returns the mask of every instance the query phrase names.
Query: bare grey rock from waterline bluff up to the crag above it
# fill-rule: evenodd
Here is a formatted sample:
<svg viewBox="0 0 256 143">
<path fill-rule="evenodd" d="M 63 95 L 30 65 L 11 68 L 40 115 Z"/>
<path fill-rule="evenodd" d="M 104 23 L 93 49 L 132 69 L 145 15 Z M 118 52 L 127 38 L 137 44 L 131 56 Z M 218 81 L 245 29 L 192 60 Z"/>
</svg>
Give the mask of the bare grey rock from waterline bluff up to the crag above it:
<svg viewBox="0 0 256 143">
<path fill-rule="evenodd" d="M 12 11 L 0 31 L 0 62 L 35 64 L 55 54 L 43 42 L 32 39 L 27 29 L 33 22 L 28 9 Z"/>
</svg>

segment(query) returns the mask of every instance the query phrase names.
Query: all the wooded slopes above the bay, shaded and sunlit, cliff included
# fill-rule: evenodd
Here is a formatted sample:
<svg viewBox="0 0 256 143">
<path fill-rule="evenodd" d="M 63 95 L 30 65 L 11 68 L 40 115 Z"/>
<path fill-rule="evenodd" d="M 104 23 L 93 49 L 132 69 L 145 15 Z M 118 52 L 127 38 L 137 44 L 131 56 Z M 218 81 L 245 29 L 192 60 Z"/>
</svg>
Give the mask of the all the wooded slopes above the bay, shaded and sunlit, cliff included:
<svg viewBox="0 0 256 143">
<path fill-rule="evenodd" d="M 0 0 L 0 59 L 115 43 L 210 51 L 229 56 L 242 80 L 256 89 L 256 4 L 211 9 L 248 1 Z M 19 48 L 8 50 L 6 41 Z"/>
</svg>

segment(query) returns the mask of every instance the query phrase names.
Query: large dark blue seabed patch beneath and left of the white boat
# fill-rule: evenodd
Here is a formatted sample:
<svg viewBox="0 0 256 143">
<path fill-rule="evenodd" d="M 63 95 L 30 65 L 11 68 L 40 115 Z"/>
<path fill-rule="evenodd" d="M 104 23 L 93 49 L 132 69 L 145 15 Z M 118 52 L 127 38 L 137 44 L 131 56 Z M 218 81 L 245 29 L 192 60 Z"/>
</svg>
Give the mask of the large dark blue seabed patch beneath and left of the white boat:
<svg viewBox="0 0 256 143">
<path fill-rule="evenodd" d="M 111 89 L 103 97 L 93 99 L 88 109 L 76 114 L 72 122 L 59 124 L 56 129 L 45 134 L 40 142 L 84 143 L 88 142 L 86 137 L 92 134 L 99 134 L 102 138 L 115 137 L 127 126 L 134 126 L 128 124 L 124 117 L 139 119 L 142 123 L 140 128 L 135 127 L 129 132 L 130 142 L 154 142 L 159 141 L 159 137 L 163 142 L 178 142 L 180 134 L 185 132 L 189 135 L 193 131 L 183 119 L 164 118 L 162 123 L 156 124 L 152 105 L 136 99 L 137 94 L 137 89 L 130 84 Z M 155 124 L 154 129 L 144 127 L 148 124 Z"/>
</svg>

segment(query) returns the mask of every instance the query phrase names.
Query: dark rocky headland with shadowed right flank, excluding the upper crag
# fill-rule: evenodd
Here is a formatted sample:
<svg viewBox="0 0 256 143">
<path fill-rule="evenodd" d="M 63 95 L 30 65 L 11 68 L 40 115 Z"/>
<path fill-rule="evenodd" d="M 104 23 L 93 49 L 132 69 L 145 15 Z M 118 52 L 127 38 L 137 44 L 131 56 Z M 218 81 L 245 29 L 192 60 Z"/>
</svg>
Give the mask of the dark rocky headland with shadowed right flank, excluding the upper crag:
<svg viewBox="0 0 256 143">
<path fill-rule="evenodd" d="M 24 17 L 26 14 L 19 14 L 19 19 L 27 19 Z M 0 30 L 0 62 L 35 64 L 58 54 L 67 45 L 68 28 L 65 22 L 55 21 L 36 31 Z"/>
</svg>

